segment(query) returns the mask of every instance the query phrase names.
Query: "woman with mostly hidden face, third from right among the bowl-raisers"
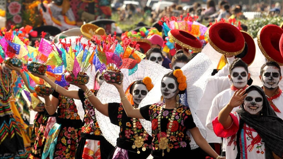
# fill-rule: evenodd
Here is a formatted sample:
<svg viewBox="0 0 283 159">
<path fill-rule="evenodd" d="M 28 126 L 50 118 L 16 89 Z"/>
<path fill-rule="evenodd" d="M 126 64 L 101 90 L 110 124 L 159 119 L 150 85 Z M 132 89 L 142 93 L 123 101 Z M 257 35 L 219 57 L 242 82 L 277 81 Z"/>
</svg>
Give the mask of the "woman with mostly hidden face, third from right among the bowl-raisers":
<svg viewBox="0 0 283 159">
<path fill-rule="evenodd" d="M 90 94 L 96 95 L 98 89 L 88 90 L 87 93 L 84 93 L 82 89 L 67 90 L 57 85 L 50 79 L 48 79 L 46 75 L 38 75 L 38 74 L 34 74 L 34 75 L 44 79 L 47 83 L 49 83 L 50 86 L 53 87 L 53 89 L 58 92 L 58 93 L 56 92 L 56 94 L 62 94 L 65 97 L 71 98 L 71 100 L 77 99 L 82 102 L 82 107 L 85 111 L 85 116 L 83 119 L 83 126 L 81 127 L 82 131 L 80 132 L 81 139 L 76 144 L 76 149 L 75 149 L 76 151 L 74 151 L 76 152 L 76 154 L 75 155 L 73 154 L 73 157 L 75 158 L 86 158 L 86 157 L 95 158 L 97 156 L 101 156 L 102 159 L 108 158 L 108 154 L 113 149 L 113 146 L 108 141 L 106 141 L 106 139 L 102 136 L 101 130 L 96 120 L 94 107 L 91 105 L 91 103 L 87 100 L 87 97 L 86 97 L 87 93 L 88 95 Z M 100 75 L 97 73 L 96 77 L 99 78 L 99 76 Z M 95 81 L 97 81 L 95 83 L 96 88 L 99 88 L 98 85 L 100 84 L 101 81 L 98 79 L 95 79 Z M 78 85 L 78 87 L 84 88 L 86 86 Z M 55 110 L 56 109 L 54 109 L 54 111 Z M 79 116 L 77 115 L 77 117 Z M 81 124 L 77 124 L 77 126 L 81 126 Z"/>
</svg>

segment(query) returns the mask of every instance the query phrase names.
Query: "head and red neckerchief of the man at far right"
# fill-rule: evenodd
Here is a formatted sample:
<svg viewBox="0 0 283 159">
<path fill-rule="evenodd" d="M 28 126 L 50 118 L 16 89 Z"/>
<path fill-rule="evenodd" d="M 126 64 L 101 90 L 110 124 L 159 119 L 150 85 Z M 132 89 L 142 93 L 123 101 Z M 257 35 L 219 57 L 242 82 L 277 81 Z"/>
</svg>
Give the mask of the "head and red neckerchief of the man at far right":
<svg viewBox="0 0 283 159">
<path fill-rule="evenodd" d="M 270 106 L 275 111 L 276 115 L 283 119 L 283 94 L 279 88 L 279 83 L 282 80 L 281 68 L 274 61 L 268 61 L 261 66 L 260 80 L 263 84 L 263 91 L 267 95 L 267 100 Z"/>
</svg>

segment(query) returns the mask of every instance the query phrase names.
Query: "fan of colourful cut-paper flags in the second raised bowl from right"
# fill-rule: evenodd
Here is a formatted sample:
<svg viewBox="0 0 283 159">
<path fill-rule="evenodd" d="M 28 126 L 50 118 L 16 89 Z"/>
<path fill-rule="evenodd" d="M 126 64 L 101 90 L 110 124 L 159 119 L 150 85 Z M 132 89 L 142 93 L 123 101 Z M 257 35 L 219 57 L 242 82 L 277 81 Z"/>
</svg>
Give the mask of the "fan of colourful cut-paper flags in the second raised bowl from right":
<svg viewBox="0 0 283 159">
<path fill-rule="evenodd" d="M 75 77 L 85 74 L 89 67 L 92 68 L 96 46 L 82 36 L 71 36 L 60 39 L 57 43 L 62 52 L 62 61 L 65 70 L 72 72 Z"/>
</svg>

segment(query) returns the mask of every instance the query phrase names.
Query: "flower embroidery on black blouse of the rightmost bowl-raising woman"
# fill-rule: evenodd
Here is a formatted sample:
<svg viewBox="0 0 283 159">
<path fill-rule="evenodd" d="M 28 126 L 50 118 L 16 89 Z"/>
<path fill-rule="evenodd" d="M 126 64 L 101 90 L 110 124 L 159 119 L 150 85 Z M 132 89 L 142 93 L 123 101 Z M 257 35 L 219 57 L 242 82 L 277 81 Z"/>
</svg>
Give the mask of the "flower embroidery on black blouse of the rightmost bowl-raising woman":
<svg viewBox="0 0 283 159">
<path fill-rule="evenodd" d="M 160 109 L 162 108 L 163 104 L 153 104 L 149 106 L 149 116 L 151 120 L 151 130 L 152 130 L 152 136 L 153 136 L 153 150 L 158 150 L 159 147 L 159 141 L 160 141 L 160 134 L 158 131 L 158 114 L 160 113 Z M 162 119 L 168 119 L 168 123 L 166 123 L 167 129 L 169 128 L 169 119 L 171 118 L 171 115 L 173 113 L 173 109 L 170 111 L 168 109 L 163 109 L 162 115 L 161 115 L 161 127 L 164 123 L 164 120 Z M 187 147 L 188 143 L 190 142 L 188 139 L 186 139 L 186 126 L 185 121 L 188 118 L 189 115 L 191 115 L 191 111 L 189 108 L 185 106 L 180 106 L 176 110 L 175 114 L 175 120 L 172 123 L 171 127 L 171 134 L 169 136 L 168 141 L 168 148 L 169 149 L 178 149 L 179 147 L 185 148 Z M 166 137 L 166 132 L 161 132 L 161 137 Z M 188 142 L 189 141 L 189 142 Z"/>
</svg>

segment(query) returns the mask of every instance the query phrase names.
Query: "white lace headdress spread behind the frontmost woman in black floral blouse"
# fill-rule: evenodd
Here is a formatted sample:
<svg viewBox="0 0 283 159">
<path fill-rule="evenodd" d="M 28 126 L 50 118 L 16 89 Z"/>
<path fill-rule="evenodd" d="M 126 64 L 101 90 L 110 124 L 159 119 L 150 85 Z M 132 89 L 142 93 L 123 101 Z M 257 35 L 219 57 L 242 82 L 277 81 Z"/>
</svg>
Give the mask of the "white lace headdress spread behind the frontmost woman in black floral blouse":
<svg viewBox="0 0 283 159">
<path fill-rule="evenodd" d="M 206 87 L 207 77 L 211 74 L 213 68 L 211 66 L 211 61 L 209 57 L 207 57 L 204 53 L 198 53 L 196 57 L 194 57 L 190 62 L 188 62 L 185 66 L 181 68 L 183 74 L 186 76 L 186 93 L 185 95 L 180 96 L 181 104 L 189 106 L 192 117 L 194 119 L 194 123 L 200 129 L 200 132 L 204 138 L 206 138 L 206 130 L 201 124 L 200 120 L 196 116 L 196 108 L 200 102 L 200 99 L 203 96 L 203 92 Z M 159 81 L 156 81 L 155 87 L 147 94 L 147 96 L 141 101 L 139 108 L 155 103 L 162 103 L 160 101 L 161 85 L 162 77 Z M 157 87 L 158 86 L 158 87 Z M 145 128 L 145 130 L 151 134 L 151 122 L 146 121 L 145 119 L 141 119 L 141 124 Z M 191 137 L 191 148 L 195 149 L 198 147 L 194 142 L 191 134 L 188 132 L 188 135 Z"/>
</svg>

